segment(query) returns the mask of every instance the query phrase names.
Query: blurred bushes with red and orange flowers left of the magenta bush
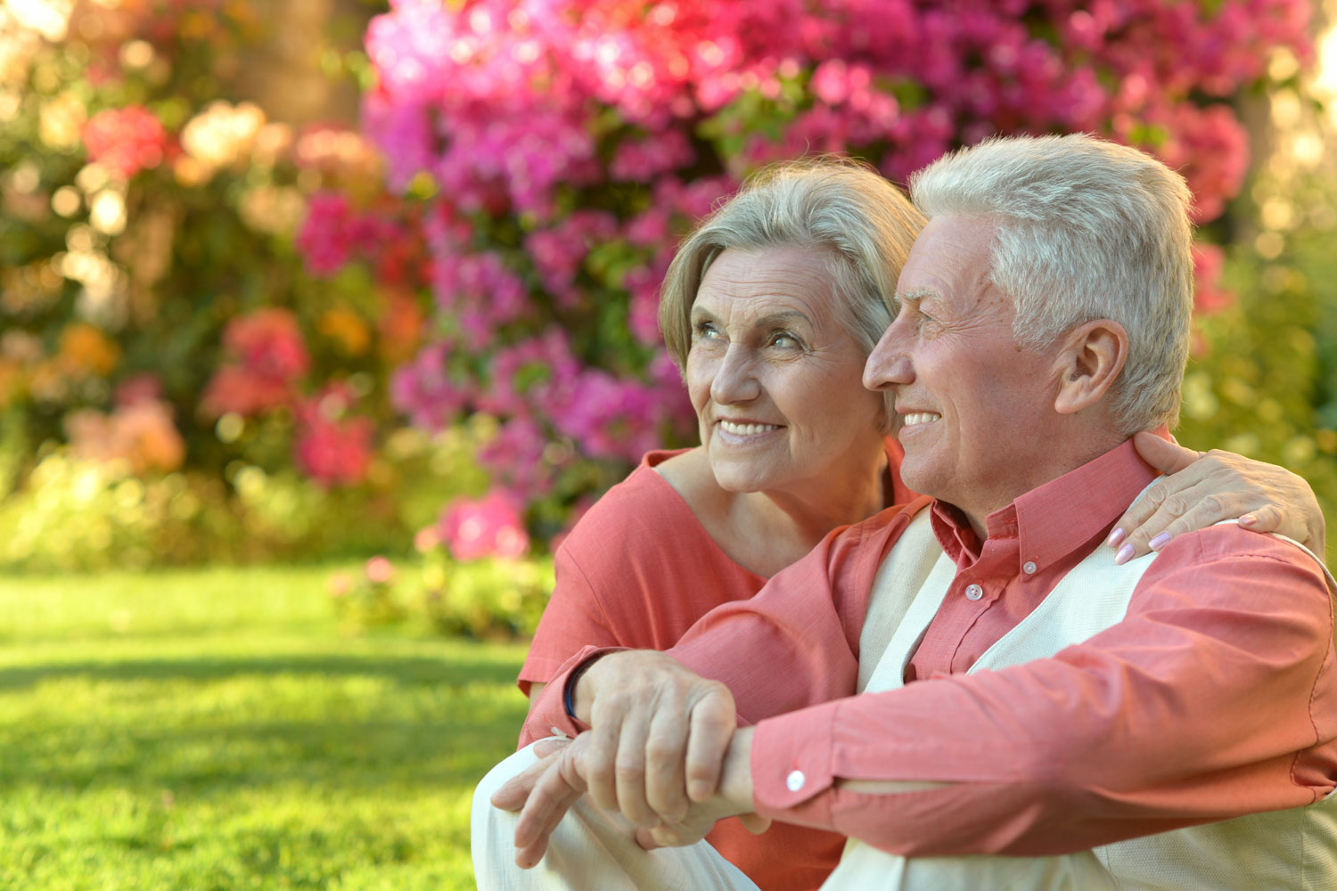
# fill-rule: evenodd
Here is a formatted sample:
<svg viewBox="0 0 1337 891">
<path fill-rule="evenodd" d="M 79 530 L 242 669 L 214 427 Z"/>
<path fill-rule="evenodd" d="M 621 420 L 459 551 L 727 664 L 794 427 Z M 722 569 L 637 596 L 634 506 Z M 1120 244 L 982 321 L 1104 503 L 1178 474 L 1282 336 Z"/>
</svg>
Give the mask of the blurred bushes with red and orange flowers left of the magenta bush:
<svg viewBox="0 0 1337 891">
<path fill-rule="evenodd" d="M 390 406 L 421 353 L 422 426 L 455 419 L 422 349 L 431 208 L 388 192 L 348 102 L 376 9 L 19 5 L 0 3 L 0 568 L 394 553 L 483 492 L 473 439 Z M 289 53 L 295 24 L 321 27 Z M 513 317 L 517 297 L 476 305 Z"/>
</svg>

